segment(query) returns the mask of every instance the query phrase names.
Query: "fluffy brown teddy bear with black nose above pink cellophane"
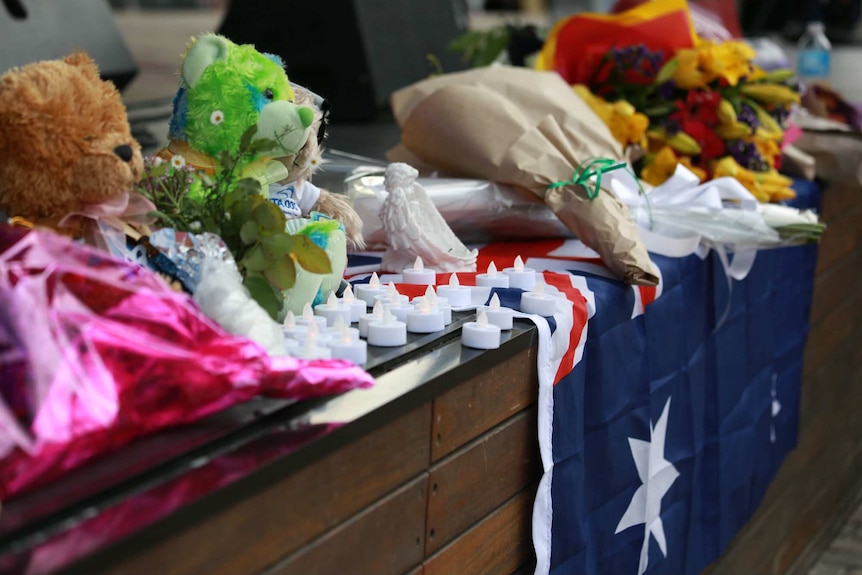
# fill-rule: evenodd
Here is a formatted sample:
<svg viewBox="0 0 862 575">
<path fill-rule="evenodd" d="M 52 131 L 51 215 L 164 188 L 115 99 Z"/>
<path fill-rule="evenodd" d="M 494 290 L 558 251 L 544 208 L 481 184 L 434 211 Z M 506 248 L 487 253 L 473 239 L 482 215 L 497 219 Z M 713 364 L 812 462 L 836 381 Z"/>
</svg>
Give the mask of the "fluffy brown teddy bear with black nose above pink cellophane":
<svg viewBox="0 0 862 575">
<path fill-rule="evenodd" d="M 8 216 L 56 228 L 97 204 L 122 215 L 142 171 L 120 93 L 85 53 L 0 77 L 0 208 Z M 78 226 L 64 231 L 75 235 Z"/>
</svg>

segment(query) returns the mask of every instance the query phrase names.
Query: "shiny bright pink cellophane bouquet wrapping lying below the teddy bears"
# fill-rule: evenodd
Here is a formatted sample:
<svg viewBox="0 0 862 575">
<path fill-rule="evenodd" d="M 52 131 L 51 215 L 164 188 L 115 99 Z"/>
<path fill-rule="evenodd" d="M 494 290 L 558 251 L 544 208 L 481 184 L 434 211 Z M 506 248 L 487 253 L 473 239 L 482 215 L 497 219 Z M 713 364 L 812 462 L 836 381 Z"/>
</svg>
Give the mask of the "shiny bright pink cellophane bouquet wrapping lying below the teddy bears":
<svg viewBox="0 0 862 575">
<path fill-rule="evenodd" d="M 137 264 L 0 225 L 0 499 L 256 395 L 372 384 L 350 362 L 270 357 Z"/>
</svg>

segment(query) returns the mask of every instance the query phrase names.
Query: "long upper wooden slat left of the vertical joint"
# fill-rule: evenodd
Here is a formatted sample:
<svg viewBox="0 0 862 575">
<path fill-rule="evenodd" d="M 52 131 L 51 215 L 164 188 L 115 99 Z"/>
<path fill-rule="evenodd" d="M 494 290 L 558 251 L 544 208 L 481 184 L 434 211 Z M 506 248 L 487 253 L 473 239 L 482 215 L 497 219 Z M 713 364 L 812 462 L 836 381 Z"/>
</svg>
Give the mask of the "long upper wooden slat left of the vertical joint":
<svg viewBox="0 0 862 575">
<path fill-rule="evenodd" d="M 431 406 L 425 404 L 142 549 L 111 573 L 256 573 L 424 472 L 430 463 L 430 420 Z M 421 536 L 423 529 L 419 531 Z"/>
</svg>

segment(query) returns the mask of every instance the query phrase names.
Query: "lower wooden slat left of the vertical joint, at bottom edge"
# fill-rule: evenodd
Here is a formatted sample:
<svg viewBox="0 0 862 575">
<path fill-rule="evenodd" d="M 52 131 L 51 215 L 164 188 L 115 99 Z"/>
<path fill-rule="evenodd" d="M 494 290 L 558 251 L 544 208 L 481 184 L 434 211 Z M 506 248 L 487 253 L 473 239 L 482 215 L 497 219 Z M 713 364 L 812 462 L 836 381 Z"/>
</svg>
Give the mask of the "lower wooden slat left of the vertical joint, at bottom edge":
<svg viewBox="0 0 862 575">
<path fill-rule="evenodd" d="M 266 575 L 400 575 L 421 564 L 427 488 L 422 474 Z"/>
</svg>

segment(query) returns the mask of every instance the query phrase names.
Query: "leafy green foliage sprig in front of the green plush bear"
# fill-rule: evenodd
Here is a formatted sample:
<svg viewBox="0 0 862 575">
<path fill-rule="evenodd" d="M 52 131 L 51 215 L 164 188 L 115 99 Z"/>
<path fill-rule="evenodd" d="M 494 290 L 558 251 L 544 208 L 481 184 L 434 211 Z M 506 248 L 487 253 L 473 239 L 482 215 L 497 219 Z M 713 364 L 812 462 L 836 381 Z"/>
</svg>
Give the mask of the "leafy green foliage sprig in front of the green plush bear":
<svg viewBox="0 0 862 575">
<path fill-rule="evenodd" d="M 254 158 L 277 146 L 254 139 L 256 130 L 252 126 L 243 134 L 236 154 L 222 152 L 212 176 L 182 162 L 148 160 L 138 191 L 155 204 L 152 216 L 159 225 L 220 236 L 252 298 L 277 318 L 282 290 L 296 282 L 297 264 L 316 274 L 330 273 L 332 264 L 308 236 L 285 231 L 281 209 L 263 195 L 257 180 L 242 176 Z"/>
</svg>

